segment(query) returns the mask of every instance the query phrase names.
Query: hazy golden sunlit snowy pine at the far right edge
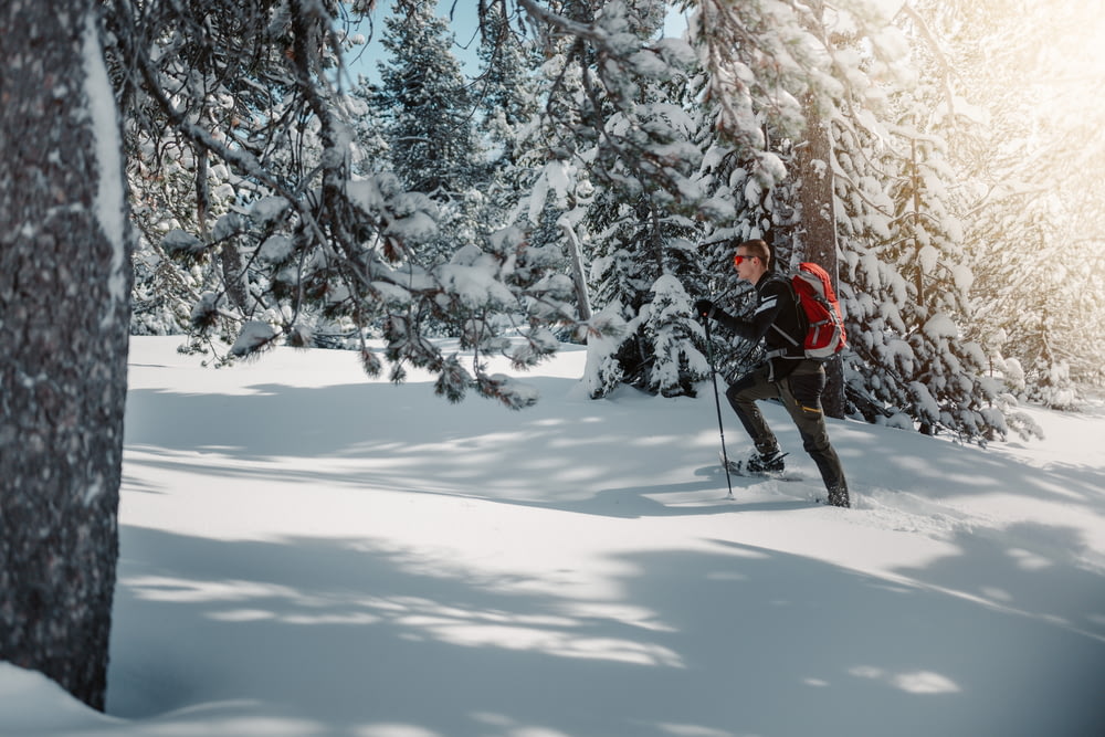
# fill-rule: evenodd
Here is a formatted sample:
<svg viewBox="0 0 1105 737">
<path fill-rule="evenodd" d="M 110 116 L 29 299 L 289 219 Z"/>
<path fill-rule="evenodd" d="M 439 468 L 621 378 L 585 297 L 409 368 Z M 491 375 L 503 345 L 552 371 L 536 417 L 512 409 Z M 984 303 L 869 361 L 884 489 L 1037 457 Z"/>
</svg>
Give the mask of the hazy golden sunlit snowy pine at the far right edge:
<svg viewBox="0 0 1105 737">
<path fill-rule="evenodd" d="M 1101 119 L 1067 84 L 1094 73 L 1084 67 L 1098 45 L 1085 22 L 1094 8 L 1028 0 L 917 9 L 955 60 L 948 86 L 975 103 L 956 108 L 951 158 L 972 183 L 966 240 L 981 306 L 972 335 L 1011 390 L 1062 406 L 1073 402 L 1075 378 L 1098 379 L 1105 364 L 1083 338 L 1087 324 L 1105 319 L 1091 296 L 1099 292 L 1099 208 L 1084 207 L 1101 198 Z"/>
</svg>

